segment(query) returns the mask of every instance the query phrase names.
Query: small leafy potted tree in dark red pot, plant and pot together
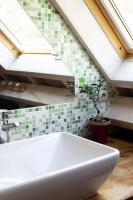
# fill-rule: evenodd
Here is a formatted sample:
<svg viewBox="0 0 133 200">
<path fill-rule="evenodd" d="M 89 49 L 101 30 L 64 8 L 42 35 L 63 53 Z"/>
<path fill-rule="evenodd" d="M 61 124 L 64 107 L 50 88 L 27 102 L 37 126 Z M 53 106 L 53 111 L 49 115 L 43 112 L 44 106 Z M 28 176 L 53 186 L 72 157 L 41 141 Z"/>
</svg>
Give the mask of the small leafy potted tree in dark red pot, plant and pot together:
<svg viewBox="0 0 133 200">
<path fill-rule="evenodd" d="M 90 118 L 89 120 L 89 125 L 92 130 L 92 139 L 96 142 L 105 144 L 108 136 L 108 125 L 111 124 L 111 120 L 103 117 L 103 114 L 99 109 L 100 101 L 103 99 L 107 100 L 107 92 L 104 87 L 104 81 L 99 79 L 95 83 L 89 85 L 85 83 L 84 78 L 80 78 L 80 92 L 89 94 L 97 112 L 96 116 Z"/>
</svg>

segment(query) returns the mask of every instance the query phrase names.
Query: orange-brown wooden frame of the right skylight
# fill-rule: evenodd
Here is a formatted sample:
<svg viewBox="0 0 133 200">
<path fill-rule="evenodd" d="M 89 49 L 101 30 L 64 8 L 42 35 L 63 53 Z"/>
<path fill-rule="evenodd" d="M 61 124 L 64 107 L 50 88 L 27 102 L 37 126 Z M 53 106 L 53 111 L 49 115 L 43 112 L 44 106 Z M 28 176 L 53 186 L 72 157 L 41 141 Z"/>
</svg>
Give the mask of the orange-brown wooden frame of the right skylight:
<svg viewBox="0 0 133 200">
<path fill-rule="evenodd" d="M 121 59 L 133 58 L 133 49 L 129 49 L 99 0 L 84 0 L 93 16 L 103 29 Z"/>
</svg>

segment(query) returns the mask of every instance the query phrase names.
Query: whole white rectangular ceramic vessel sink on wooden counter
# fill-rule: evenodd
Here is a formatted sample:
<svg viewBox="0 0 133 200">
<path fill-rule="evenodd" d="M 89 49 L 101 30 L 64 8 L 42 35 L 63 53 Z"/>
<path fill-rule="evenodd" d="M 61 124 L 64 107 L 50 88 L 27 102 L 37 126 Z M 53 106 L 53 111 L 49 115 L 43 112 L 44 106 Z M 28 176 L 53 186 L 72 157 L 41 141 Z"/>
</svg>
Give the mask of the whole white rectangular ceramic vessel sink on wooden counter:
<svg viewBox="0 0 133 200">
<path fill-rule="evenodd" d="M 81 200 L 111 174 L 119 151 L 69 133 L 0 145 L 0 200 Z"/>
</svg>

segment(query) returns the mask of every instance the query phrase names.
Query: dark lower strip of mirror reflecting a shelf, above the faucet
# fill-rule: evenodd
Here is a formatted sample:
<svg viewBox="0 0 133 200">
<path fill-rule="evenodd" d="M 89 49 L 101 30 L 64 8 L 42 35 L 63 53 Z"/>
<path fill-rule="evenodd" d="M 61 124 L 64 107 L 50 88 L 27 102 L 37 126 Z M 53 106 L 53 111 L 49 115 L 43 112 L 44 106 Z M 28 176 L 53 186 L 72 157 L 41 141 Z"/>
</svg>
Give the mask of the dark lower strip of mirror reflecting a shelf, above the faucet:
<svg viewBox="0 0 133 200">
<path fill-rule="evenodd" d="M 74 100 L 74 81 L 63 82 L 4 73 L 0 76 L 0 109 L 12 110 Z"/>
</svg>

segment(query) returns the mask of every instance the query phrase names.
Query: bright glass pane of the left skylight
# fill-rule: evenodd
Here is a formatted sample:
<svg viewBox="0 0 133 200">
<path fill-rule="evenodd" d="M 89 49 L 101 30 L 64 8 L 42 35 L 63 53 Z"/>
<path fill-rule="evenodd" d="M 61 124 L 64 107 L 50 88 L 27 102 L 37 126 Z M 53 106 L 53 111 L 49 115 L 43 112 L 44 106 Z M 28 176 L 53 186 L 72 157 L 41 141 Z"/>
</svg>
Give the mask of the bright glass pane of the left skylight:
<svg viewBox="0 0 133 200">
<path fill-rule="evenodd" d="M 52 51 L 17 0 L 0 0 L 0 30 L 21 52 Z"/>
</svg>

